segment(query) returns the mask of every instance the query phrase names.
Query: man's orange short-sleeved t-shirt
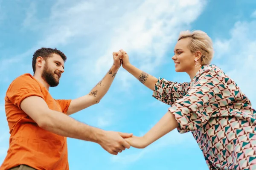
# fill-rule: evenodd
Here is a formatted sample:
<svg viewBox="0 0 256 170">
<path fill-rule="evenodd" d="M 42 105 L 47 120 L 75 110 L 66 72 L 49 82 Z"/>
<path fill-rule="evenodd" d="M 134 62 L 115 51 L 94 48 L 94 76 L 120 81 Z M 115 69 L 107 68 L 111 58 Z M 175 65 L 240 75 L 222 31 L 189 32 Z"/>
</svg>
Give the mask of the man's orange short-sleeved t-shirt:
<svg viewBox="0 0 256 170">
<path fill-rule="evenodd" d="M 20 108 L 23 99 L 39 96 L 54 111 L 67 113 L 71 100 L 55 100 L 31 74 L 17 77 L 5 97 L 6 117 L 10 129 L 7 156 L 0 170 L 26 164 L 37 170 L 68 170 L 67 138 L 39 127 Z"/>
</svg>

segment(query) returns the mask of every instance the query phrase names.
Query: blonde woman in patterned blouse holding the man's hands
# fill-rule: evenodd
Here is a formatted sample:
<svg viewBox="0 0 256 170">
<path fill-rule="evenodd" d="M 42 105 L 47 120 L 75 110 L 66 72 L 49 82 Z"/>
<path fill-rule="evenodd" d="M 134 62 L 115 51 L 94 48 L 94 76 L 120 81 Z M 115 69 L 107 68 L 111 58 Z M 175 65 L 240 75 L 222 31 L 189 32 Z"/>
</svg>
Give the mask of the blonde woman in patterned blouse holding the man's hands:
<svg viewBox="0 0 256 170">
<path fill-rule="evenodd" d="M 122 65 L 153 96 L 170 105 L 167 113 L 143 137 L 126 139 L 145 148 L 177 128 L 191 131 L 211 170 L 256 170 L 256 111 L 236 83 L 216 65 L 212 40 L 203 31 L 183 31 L 174 49 L 176 72 L 189 74 L 191 82 L 155 78 L 130 64 Z"/>
</svg>

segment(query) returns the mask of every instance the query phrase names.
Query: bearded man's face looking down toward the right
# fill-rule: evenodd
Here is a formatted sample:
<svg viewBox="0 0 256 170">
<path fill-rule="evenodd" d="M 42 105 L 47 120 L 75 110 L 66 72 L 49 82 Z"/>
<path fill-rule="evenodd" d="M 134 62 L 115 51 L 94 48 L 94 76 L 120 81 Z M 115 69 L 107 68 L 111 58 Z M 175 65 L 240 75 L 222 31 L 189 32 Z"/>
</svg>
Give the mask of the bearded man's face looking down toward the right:
<svg viewBox="0 0 256 170">
<path fill-rule="evenodd" d="M 44 64 L 41 77 L 50 87 L 56 87 L 59 84 L 61 74 L 64 72 L 64 61 L 58 54 L 52 54 Z"/>
</svg>

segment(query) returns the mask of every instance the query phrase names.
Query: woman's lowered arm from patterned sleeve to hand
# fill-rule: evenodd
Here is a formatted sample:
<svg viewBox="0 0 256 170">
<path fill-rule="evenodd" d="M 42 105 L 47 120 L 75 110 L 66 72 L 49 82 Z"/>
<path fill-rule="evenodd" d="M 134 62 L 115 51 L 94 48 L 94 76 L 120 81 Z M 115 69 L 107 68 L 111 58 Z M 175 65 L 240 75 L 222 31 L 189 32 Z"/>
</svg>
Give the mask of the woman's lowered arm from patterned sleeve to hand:
<svg viewBox="0 0 256 170">
<path fill-rule="evenodd" d="M 126 139 L 127 142 L 133 147 L 144 148 L 175 128 L 186 133 L 203 127 L 212 114 L 218 113 L 219 107 L 228 105 L 225 99 L 228 93 L 224 92 L 228 90 L 225 78 L 218 68 L 205 68 L 188 93 L 174 102 L 145 136 L 133 136 Z M 230 93 L 229 97 L 236 96 Z"/>
</svg>

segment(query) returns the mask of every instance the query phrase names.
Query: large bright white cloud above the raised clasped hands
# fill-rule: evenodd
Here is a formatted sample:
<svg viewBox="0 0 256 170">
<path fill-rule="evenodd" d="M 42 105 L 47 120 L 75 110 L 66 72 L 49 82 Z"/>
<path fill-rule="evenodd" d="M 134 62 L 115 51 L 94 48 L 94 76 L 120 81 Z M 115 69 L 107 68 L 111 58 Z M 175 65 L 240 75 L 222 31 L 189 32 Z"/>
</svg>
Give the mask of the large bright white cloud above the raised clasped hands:
<svg viewBox="0 0 256 170">
<path fill-rule="evenodd" d="M 144 1 L 126 13 L 114 27 L 111 43 L 106 54 L 97 59 L 96 69 L 100 72 L 106 63 L 111 64 L 108 54 L 122 47 L 141 69 L 154 70 L 162 63 L 169 45 L 176 41 L 178 32 L 189 27 L 201 14 L 204 4 L 204 1 Z M 137 58 L 132 57 L 134 53 Z"/>
</svg>

